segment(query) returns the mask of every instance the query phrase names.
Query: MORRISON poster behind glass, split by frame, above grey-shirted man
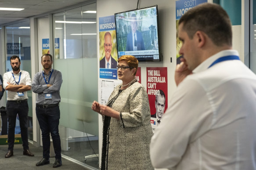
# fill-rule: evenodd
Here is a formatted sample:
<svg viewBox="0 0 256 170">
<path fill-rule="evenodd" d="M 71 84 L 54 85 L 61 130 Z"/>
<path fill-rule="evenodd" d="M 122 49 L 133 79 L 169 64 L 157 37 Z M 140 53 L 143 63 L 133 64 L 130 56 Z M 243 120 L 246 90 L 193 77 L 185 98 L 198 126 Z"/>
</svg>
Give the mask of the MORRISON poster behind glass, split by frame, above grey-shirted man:
<svg viewBox="0 0 256 170">
<path fill-rule="evenodd" d="M 54 59 L 60 58 L 60 38 L 54 39 Z M 42 39 L 42 55 L 50 54 L 50 39 L 43 38 Z"/>
</svg>

